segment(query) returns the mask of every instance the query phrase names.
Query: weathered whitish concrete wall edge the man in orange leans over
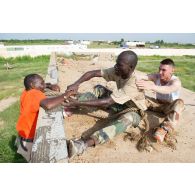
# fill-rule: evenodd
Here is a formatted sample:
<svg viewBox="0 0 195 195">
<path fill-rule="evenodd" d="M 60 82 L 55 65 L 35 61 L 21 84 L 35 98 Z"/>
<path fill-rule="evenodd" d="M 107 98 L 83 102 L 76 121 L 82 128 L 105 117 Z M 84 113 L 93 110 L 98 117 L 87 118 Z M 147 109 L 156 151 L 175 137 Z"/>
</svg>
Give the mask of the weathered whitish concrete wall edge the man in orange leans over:
<svg viewBox="0 0 195 195">
<path fill-rule="evenodd" d="M 52 53 L 46 82 L 58 82 L 56 53 Z M 68 162 L 62 107 L 50 111 L 40 108 L 32 148 L 32 163 Z"/>
</svg>

